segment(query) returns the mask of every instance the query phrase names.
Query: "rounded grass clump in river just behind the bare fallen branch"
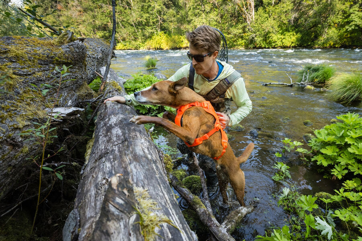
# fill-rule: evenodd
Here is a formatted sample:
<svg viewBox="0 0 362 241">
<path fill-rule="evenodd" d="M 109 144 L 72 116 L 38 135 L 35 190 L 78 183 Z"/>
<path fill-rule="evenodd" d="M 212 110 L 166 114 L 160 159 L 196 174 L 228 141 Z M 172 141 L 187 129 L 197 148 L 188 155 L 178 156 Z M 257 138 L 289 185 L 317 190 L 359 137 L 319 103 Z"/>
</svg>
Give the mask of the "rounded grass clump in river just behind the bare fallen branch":
<svg viewBox="0 0 362 241">
<path fill-rule="evenodd" d="M 315 84 L 325 84 L 331 79 L 336 70 L 333 67 L 324 64 L 315 64 L 304 66 L 298 71 L 298 82 L 307 81 Z"/>
</svg>

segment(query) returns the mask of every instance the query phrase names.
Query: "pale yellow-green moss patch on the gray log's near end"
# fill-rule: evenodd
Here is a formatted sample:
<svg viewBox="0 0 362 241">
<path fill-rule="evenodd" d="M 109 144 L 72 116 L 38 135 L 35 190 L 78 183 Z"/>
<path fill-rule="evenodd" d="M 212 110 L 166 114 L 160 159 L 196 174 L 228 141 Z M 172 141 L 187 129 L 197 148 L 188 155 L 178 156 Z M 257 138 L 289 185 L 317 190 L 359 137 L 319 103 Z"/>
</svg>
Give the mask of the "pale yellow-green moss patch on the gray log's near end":
<svg viewBox="0 0 362 241">
<path fill-rule="evenodd" d="M 147 190 L 135 187 L 134 193 L 137 200 L 137 207 L 135 209 L 140 216 L 139 224 L 145 241 L 155 240 L 156 235 L 159 235 L 155 232 L 155 228 L 161 228 L 160 225 L 163 223 L 177 228 L 168 217 L 155 212 L 155 210 L 160 208 L 158 203 L 151 199 Z"/>
</svg>

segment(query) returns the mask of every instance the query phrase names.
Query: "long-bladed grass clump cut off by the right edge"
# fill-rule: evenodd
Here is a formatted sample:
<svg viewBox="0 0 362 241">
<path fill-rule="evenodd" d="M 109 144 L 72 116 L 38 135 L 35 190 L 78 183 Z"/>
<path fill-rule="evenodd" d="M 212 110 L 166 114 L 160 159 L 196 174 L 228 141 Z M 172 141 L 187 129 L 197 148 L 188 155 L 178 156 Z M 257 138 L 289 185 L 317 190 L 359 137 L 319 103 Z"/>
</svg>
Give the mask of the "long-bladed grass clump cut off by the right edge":
<svg viewBox="0 0 362 241">
<path fill-rule="evenodd" d="M 362 73 L 342 73 L 327 82 L 327 97 L 332 101 L 350 103 L 362 100 Z"/>
</svg>

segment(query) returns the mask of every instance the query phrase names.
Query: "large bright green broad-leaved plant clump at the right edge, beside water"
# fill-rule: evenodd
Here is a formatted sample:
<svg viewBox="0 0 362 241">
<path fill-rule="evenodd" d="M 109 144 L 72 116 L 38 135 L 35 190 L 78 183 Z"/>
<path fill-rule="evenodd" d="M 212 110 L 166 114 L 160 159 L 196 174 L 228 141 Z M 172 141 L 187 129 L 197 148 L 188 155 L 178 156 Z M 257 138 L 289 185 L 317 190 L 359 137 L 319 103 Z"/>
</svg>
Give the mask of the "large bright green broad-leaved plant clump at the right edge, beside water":
<svg viewBox="0 0 362 241">
<path fill-rule="evenodd" d="M 315 152 L 312 161 L 341 179 L 347 173 L 362 174 L 362 118 L 348 113 L 337 116 L 341 122 L 315 130 L 308 145 Z"/>
</svg>

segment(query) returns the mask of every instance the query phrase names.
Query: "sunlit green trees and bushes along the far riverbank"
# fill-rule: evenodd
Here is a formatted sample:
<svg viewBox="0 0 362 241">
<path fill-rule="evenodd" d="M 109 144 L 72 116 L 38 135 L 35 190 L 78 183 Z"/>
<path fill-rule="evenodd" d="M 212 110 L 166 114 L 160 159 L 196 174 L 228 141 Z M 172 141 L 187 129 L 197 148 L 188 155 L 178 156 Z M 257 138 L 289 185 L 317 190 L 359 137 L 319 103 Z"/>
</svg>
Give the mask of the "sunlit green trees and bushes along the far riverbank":
<svg viewBox="0 0 362 241">
<path fill-rule="evenodd" d="M 220 29 L 231 48 L 362 46 L 362 0 L 254 0 L 250 24 L 242 16 L 242 3 L 117 0 L 118 48 L 187 47 L 185 31 L 202 24 Z M 42 15 L 57 10 L 44 17 L 51 25 L 70 25 L 77 36 L 111 38 L 111 0 L 51 0 L 40 5 Z"/>
</svg>

